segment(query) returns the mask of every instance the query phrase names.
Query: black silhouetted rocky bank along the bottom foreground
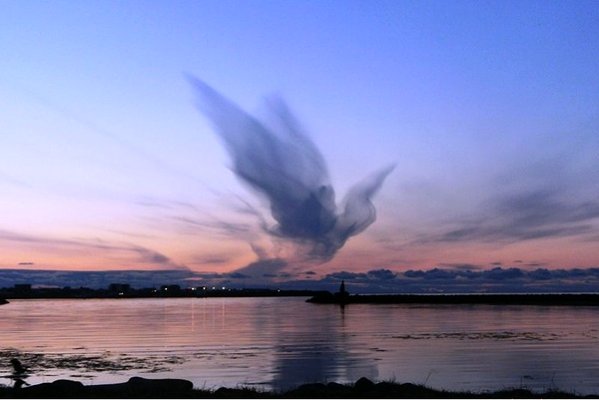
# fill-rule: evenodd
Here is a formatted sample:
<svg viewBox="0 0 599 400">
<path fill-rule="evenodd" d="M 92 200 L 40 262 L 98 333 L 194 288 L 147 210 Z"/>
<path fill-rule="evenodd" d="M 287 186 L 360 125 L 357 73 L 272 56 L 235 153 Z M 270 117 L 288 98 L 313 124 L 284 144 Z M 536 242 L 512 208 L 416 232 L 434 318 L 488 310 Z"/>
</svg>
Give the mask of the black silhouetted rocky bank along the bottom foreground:
<svg viewBox="0 0 599 400">
<path fill-rule="evenodd" d="M 268 399 L 268 398 L 599 398 L 576 396 L 557 390 L 534 393 L 526 389 L 497 392 L 447 392 L 411 383 L 374 383 L 360 378 L 354 384 L 312 383 L 286 392 L 267 392 L 251 388 L 194 389 L 183 379 L 144 379 L 134 377 L 124 383 L 85 386 L 81 382 L 57 380 L 21 389 L 0 387 L 0 398 L 194 398 L 194 399 Z"/>
</svg>

